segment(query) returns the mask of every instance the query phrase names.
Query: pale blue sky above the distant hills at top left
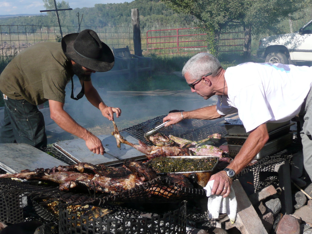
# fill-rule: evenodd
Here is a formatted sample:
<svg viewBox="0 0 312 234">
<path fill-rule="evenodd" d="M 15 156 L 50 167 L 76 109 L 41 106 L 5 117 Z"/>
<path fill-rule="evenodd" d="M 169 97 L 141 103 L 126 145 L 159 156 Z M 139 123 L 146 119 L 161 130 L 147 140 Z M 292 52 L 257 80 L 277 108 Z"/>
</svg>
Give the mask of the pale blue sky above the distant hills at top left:
<svg viewBox="0 0 312 234">
<path fill-rule="evenodd" d="M 94 7 L 95 4 L 102 3 L 123 3 L 133 0 L 65 0 L 73 9 L 82 7 Z M 61 0 L 56 0 L 61 2 Z M 0 0 L 0 15 L 16 14 L 40 14 L 45 10 L 42 0 Z"/>
</svg>

